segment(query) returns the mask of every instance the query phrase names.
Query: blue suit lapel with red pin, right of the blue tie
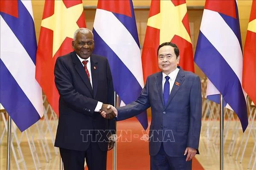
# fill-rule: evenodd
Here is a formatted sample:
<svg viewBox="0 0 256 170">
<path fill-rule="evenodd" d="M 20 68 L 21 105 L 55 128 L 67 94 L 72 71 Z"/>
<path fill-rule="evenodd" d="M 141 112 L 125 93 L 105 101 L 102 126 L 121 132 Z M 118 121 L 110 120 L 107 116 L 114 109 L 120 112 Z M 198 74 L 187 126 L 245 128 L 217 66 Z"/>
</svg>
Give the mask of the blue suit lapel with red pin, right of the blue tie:
<svg viewBox="0 0 256 170">
<path fill-rule="evenodd" d="M 184 71 L 182 70 L 182 68 L 180 68 L 180 70 L 179 70 L 179 72 L 177 74 L 177 77 L 175 79 L 174 85 L 172 87 L 172 91 L 171 91 L 171 94 L 170 94 L 170 96 L 168 98 L 166 106 L 168 106 L 169 103 L 172 101 L 173 97 L 175 96 L 177 91 L 180 89 L 182 83 L 184 82 L 184 79 L 185 79 Z"/>
</svg>

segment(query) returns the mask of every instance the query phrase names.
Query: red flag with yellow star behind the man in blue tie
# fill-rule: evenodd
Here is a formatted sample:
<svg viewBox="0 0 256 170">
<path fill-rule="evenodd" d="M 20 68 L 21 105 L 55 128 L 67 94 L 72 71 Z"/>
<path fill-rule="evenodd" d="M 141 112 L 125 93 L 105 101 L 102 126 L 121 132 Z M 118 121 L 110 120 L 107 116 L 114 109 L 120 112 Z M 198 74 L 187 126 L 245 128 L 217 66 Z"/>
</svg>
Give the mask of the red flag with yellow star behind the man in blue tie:
<svg viewBox="0 0 256 170">
<path fill-rule="evenodd" d="M 179 65 L 194 72 L 186 0 L 151 0 L 142 51 L 144 82 L 149 75 L 160 71 L 157 48 L 163 42 L 175 43 L 180 50 Z"/>
</svg>

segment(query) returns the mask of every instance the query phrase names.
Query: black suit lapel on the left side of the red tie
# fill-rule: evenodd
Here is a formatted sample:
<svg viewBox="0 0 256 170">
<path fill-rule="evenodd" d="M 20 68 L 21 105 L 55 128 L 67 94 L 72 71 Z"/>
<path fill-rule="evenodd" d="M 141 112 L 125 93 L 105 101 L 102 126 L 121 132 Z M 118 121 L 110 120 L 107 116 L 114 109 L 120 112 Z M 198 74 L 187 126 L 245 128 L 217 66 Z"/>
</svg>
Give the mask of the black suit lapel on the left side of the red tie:
<svg viewBox="0 0 256 170">
<path fill-rule="evenodd" d="M 72 53 L 72 59 L 73 59 L 74 67 L 75 67 L 77 73 L 79 74 L 79 76 L 81 77 L 81 79 L 83 80 L 83 82 L 87 86 L 87 88 L 90 90 L 91 95 L 93 95 L 93 89 L 92 89 L 90 81 L 89 81 L 89 79 L 88 79 L 88 77 L 86 75 L 86 72 L 84 70 L 84 66 L 80 62 L 78 57 L 76 56 L 76 52 L 75 51 L 73 51 L 73 53 Z"/>
</svg>

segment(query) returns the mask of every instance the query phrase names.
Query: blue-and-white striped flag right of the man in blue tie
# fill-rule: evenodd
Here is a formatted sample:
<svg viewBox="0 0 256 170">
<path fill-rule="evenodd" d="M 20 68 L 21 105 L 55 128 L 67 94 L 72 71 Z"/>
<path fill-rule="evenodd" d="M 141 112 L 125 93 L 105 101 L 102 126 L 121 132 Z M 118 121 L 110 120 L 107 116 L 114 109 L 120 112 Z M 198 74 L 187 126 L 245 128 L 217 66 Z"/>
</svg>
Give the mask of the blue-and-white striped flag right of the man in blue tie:
<svg viewBox="0 0 256 170">
<path fill-rule="evenodd" d="M 208 77 L 207 98 L 236 112 L 243 131 L 248 125 L 242 88 L 243 54 L 239 15 L 235 0 L 206 0 L 195 63 Z"/>
</svg>

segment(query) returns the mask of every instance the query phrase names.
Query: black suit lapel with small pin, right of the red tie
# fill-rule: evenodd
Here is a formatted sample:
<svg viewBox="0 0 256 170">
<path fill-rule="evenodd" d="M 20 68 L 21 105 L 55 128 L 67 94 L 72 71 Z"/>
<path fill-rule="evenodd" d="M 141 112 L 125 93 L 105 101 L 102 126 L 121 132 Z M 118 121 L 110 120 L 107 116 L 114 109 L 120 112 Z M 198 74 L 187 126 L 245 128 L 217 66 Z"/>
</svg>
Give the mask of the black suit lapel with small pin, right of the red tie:
<svg viewBox="0 0 256 170">
<path fill-rule="evenodd" d="M 98 69 L 98 61 L 95 57 L 90 57 L 91 61 L 91 73 L 92 73 L 92 79 L 93 79 L 93 98 L 96 97 L 97 94 L 97 88 L 98 88 L 98 76 L 99 76 L 99 69 Z"/>
</svg>

